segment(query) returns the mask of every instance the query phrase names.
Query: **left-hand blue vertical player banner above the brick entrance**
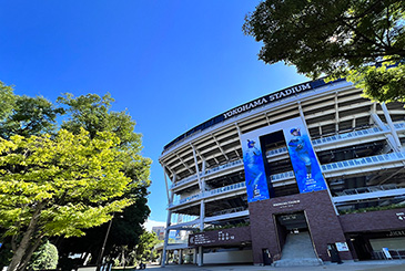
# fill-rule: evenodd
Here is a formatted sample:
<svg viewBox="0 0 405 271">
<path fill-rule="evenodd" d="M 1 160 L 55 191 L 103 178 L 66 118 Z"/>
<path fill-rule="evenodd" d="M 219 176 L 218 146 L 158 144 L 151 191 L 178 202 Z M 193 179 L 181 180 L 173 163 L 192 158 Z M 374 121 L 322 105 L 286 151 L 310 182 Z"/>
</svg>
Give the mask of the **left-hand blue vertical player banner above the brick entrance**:
<svg viewBox="0 0 405 271">
<path fill-rule="evenodd" d="M 241 136 L 247 202 L 270 198 L 259 136 L 255 132 Z"/>
</svg>

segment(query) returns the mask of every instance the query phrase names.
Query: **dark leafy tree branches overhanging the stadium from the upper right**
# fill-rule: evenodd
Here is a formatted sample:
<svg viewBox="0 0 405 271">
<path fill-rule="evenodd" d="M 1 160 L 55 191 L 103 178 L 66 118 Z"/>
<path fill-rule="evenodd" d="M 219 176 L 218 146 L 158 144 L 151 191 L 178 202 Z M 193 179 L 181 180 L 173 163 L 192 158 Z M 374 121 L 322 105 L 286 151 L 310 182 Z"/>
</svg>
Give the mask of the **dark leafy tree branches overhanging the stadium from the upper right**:
<svg viewBox="0 0 405 271">
<path fill-rule="evenodd" d="M 266 0 L 243 31 L 263 42 L 266 64 L 284 61 L 313 79 L 347 76 L 389 102 L 405 101 L 404 25 L 402 0 Z"/>
</svg>

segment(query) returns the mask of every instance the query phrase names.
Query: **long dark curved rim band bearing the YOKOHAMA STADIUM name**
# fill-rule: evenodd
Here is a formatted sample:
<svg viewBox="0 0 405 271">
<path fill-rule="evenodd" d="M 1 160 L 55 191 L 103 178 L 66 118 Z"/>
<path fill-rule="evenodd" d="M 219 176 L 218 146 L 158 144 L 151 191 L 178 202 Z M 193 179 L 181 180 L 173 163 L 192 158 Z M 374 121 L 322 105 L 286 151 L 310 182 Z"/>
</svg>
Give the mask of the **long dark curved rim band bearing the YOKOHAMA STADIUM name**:
<svg viewBox="0 0 405 271">
<path fill-rule="evenodd" d="M 172 140 L 171 143 L 169 143 L 168 145 L 164 146 L 164 150 L 168 149 L 169 147 L 171 147 L 172 145 L 176 144 L 178 142 L 183 140 L 184 138 L 191 136 L 192 134 L 196 133 L 196 132 L 201 132 L 204 131 L 217 123 L 221 123 L 225 119 L 229 119 L 231 117 L 237 116 L 240 114 L 243 114 L 245 112 L 249 112 L 251 110 L 257 108 L 260 106 L 266 105 L 266 104 L 271 104 L 273 102 L 276 101 L 281 101 L 283 98 L 290 97 L 290 96 L 294 96 L 294 95 L 298 95 L 303 92 L 310 91 L 310 90 L 314 90 L 316 87 L 320 86 L 324 86 L 327 84 L 332 84 L 332 83 L 336 83 L 340 81 L 344 81 L 344 80 L 336 80 L 334 82 L 328 82 L 325 83 L 323 80 L 316 80 L 316 81 L 311 81 L 311 82 L 306 82 L 306 83 L 302 83 L 298 85 L 294 85 L 292 87 L 287 87 L 284 90 L 281 90 L 279 92 L 274 92 L 267 95 L 264 95 L 262 97 L 259 97 L 256 100 L 253 100 L 251 102 L 247 102 L 245 104 L 242 104 L 240 106 L 236 106 L 221 115 L 217 115 L 198 126 L 195 126 L 194 128 L 188 131 L 186 133 L 182 134 L 181 136 L 179 136 L 178 138 L 175 138 L 174 140 Z"/>
</svg>

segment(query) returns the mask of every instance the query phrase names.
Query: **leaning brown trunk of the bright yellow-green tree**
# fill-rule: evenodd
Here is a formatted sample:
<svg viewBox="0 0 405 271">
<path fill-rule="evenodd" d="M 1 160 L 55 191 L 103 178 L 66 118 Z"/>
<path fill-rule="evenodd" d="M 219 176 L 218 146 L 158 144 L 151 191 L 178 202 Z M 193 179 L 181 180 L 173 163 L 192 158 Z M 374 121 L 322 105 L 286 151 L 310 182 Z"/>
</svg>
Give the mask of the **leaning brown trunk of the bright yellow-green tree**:
<svg viewBox="0 0 405 271">
<path fill-rule="evenodd" d="M 27 231 L 22 236 L 22 240 L 21 240 L 20 244 L 18 246 L 17 250 L 13 251 L 13 256 L 12 256 L 10 265 L 8 268 L 8 271 L 19 271 L 19 270 L 21 270 L 20 268 L 27 265 L 26 262 L 28 262 L 30 260 L 24 256 L 27 254 L 28 249 L 30 247 L 30 241 L 36 233 L 37 223 L 38 223 L 38 220 L 39 220 L 43 206 L 44 206 L 44 202 L 39 202 L 36 210 L 33 211 L 31 221 L 27 228 Z M 40 238 L 40 237 L 38 237 L 38 238 Z"/>
</svg>

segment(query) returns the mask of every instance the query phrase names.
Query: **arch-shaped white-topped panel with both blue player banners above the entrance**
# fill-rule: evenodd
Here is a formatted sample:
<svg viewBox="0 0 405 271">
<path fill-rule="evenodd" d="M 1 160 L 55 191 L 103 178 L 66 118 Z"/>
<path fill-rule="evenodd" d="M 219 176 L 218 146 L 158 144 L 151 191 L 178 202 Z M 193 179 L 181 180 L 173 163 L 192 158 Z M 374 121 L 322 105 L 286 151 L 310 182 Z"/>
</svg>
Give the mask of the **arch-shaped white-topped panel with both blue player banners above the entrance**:
<svg viewBox="0 0 405 271">
<path fill-rule="evenodd" d="M 247 202 L 269 199 L 274 195 L 270 177 L 271 168 L 263 155 L 263 152 L 267 150 L 263 150 L 265 146 L 261 146 L 261 140 L 265 145 L 266 137 L 277 133 L 284 136 L 300 192 L 327 189 L 304 123 L 296 117 L 241 136 Z"/>
</svg>

